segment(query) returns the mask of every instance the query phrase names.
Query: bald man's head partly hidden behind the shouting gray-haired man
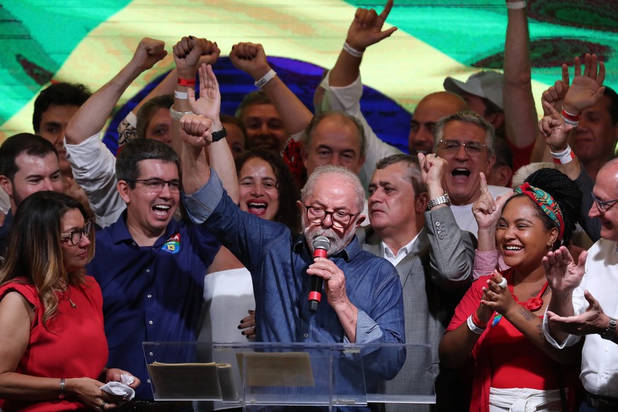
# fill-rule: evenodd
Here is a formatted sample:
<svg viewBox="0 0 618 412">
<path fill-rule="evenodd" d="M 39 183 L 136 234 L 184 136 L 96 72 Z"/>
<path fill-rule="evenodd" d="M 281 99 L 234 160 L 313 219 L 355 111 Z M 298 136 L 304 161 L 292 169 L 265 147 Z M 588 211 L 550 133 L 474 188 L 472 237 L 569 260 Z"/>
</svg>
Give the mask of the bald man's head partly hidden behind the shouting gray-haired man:
<svg viewBox="0 0 618 412">
<path fill-rule="evenodd" d="M 425 154 L 433 149 L 435 123 L 446 116 L 462 110 L 469 110 L 462 96 L 450 91 L 438 91 L 425 96 L 414 109 L 410 122 L 408 146 L 412 154 Z"/>
</svg>

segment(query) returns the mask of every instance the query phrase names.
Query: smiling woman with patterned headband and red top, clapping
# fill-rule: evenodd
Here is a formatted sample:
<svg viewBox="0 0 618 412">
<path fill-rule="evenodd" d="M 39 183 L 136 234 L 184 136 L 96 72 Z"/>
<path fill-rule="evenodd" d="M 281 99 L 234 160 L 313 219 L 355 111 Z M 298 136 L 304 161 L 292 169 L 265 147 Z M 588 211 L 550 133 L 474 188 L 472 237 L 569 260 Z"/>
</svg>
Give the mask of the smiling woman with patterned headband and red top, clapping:
<svg viewBox="0 0 618 412">
<path fill-rule="evenodd" d="M 440 342 L 442 365 L 471 365 L 470 411 L 549 412 L 575 405 L 577 374 L 561 365 L 576 363 L 580 348 L 556 350 L 544 339 L 551 290 L 542 258 L 570 241 L 581 193 L 555 169 L 534 172 L 527 182 L 534 185 L 520 185 L 501 210 L 487 211 L 487 219 L 498 221 L 496 246 L 509 268 L 471 285 Z M 481 236 L 486 233 L 479 231 L 479 243 L 487 240 Z"/>
</svg>

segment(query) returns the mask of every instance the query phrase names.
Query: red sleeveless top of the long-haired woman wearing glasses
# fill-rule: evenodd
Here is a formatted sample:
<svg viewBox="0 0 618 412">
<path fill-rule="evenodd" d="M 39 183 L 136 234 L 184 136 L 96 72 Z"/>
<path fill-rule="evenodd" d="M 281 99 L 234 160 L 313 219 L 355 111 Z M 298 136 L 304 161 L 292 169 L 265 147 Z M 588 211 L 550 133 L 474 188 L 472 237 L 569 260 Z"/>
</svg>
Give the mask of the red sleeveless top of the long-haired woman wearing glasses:
<svg viewBox="0 0 618 412">
<path fill-rule="evenodd" d="M 21 280 L 21 279 L 18 279 Z M 35 377 L 90 377 L 98 379 L 108 360 L 108 343 L 103 330 L 103 297 L 93 277 L 86 276 L 81 287 L 71 286 L 69 300 L 59 294 L 55 316 L 43 327 L 43 308 L 33 285 L 9 282 L 0 287 L 0 299 L 8 292 L 18 292 L 35 311 L 30 327 L 30 341 L 15 372 Z M 67 297 L 67 292 L 64 293 Z M 60 401 L 18 401 L 7 399 L 2 411 L 74 411 L 84 408 L 75 398 Z"/>
</svg>

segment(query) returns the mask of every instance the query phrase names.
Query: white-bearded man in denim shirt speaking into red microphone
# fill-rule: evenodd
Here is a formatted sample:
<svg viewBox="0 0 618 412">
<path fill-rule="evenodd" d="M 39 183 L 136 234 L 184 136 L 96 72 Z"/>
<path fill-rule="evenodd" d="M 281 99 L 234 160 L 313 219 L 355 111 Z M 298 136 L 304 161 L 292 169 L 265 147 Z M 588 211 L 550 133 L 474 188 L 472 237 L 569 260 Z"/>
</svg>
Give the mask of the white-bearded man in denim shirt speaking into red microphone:
<svg viewBox="0 0 618 412">
<path fill-rule="evenodd" d="M 316 168 L 298 202 L 302 234 L 294 234 L 284 224 L 239 210 L 202 148 L 184 144 L 185 205 L 193 222 L 205 223 L 251 272 L 256 341 L 405 343 L 399 275 L 388 261 L 362 251 L 355 237 L 365 220 L 365 191 L 355 173 Z M 330 243 L 327 258 L 314 258 L 319 236 Z M 309 310 L 311 277 L 324 282 L 320 292 L 326 299 L 316 311 Z M 383 352 L 372 372 L 391 379 L 405 351 Z"/>
</svg>

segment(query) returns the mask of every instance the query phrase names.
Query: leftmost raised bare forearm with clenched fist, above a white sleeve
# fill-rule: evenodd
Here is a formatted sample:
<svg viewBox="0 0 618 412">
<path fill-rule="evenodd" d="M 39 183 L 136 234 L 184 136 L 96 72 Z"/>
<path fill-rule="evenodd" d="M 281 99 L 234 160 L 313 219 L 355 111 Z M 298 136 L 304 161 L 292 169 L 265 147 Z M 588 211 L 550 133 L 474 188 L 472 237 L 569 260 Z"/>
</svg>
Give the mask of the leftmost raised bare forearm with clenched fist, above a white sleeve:
<svg viewBox="0 0 618 412">
<path fill-rule="evenodd" d="M 139 42 L 130 62 L 88 98 L 71 118 L 65 131 L 68 144 L 80 144 L 103 129 L 120 96 L 132 81 L 167 55 L 164 46 L 161 40 L 151 38 L 143 38 Z"/>
</svg>

